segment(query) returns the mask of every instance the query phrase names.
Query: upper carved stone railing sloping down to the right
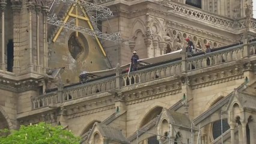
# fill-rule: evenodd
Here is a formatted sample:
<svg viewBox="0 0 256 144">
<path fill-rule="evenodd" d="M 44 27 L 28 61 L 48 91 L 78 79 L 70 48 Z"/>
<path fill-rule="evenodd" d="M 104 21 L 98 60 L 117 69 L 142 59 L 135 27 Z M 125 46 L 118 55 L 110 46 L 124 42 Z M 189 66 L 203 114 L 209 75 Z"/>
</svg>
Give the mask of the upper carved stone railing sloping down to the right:
<svg viewBox="0 0 256 144">
<path fill-rule="evenodd" d="M 186 5 L 176 4 L 173 1 L 170 2 L 164 2 L 163 4 L 168 5 L 168 7 L 171 8 L 169 12 L 175 13 L 175 14 L 182 14 L 184 16 L 193 17 L 195 19 L 204 21 L 204 22 L 210 22 L 214 25 L 222 26 L 224 28 L 234 28 L 234 21 L 231 19 L 228 19 L 226 17 L 221 16 L 215 16 L 213 13 L 209 13 L 207 11 L 202 12 L 202 10 L 197 10 L 196 8 L 187 7 Z"/>
</svg>

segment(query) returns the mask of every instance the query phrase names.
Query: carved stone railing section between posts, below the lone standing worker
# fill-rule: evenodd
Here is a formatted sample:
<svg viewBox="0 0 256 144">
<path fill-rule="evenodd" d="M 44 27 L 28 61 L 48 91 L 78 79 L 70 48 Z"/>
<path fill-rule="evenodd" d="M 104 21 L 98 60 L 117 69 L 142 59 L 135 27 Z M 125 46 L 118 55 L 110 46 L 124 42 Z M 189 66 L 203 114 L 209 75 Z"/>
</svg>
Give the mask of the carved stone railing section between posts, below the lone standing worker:
<svg viewBox="0 0 256 144">
<path fill-rule="evenodd" d="M 136 83 L 149 82 L 154 79 L 173 76 L 181 73 L 181 61 L 171 62 L 161 65 L 161 67 L 151 67 L 139 70 L 130 74 L 123 74 L 122 86 L 133 85 Z"/>
</svg>

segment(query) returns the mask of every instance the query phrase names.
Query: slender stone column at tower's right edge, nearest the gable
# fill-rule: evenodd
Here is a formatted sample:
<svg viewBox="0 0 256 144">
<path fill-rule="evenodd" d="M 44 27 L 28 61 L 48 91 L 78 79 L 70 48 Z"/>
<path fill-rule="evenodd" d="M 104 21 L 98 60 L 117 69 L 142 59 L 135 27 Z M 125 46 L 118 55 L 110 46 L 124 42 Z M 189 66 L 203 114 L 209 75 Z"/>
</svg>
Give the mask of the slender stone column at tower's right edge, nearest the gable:
<svg viewBox="0 0 256 144">
<path fill-rule="evenodd" d="M 42 7 L 43 13 L 43 73 L 46 73 L 48 68 L 48 47 L 47 47 L 47 13 L 48 7 Z"/>
</svg>

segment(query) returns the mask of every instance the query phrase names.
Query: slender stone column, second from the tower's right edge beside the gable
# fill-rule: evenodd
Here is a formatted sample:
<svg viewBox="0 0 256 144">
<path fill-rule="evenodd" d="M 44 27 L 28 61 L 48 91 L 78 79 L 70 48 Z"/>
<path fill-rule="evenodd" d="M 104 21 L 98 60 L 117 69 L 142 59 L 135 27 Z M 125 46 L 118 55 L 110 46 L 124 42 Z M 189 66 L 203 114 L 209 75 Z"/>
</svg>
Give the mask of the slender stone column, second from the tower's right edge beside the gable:
<svg viewBox="0 0 256 144">
<path fill-rule="evenodd" d="M 41 73 L 41 65 L 40 65 L 40 12 L 41 12 L 41 5 L 35 5 L 35 11 L 37 13 L 37 72 Z"/>
</svg>

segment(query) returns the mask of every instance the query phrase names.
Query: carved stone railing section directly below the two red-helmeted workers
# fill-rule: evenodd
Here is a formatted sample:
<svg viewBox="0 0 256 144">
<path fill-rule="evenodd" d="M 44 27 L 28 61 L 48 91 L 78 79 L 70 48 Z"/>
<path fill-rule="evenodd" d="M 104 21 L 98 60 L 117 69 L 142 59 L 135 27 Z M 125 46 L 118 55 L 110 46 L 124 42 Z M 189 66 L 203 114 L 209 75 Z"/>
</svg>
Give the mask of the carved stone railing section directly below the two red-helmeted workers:
<svg viewBox="0 0 256 144">
<path fill-rule="evenodd" d="M 195 56 L 187 59 L 187 70 L 210 67 L 224 62 L 236 61 L 243 57 L 243 46 L 234 46 L 224 50 L 207 53 L 206 55 Z"/>
</svg>

